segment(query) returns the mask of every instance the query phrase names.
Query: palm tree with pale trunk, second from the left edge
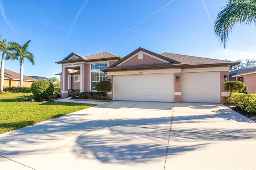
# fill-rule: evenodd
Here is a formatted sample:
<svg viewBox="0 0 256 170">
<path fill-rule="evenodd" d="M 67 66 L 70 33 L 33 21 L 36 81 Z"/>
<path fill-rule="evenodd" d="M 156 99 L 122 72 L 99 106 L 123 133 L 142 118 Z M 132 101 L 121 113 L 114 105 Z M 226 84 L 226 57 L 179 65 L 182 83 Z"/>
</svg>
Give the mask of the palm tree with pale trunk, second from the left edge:
<svg viewBox="0 0 256 170">
<path fill-rule="evenodd" d="M 16 57 L 20 58 L 20 87 L 23 86 L 23 63 L 24 63 L 24 58 L 27 58 L 28 61 L 32 63 L 32 65 L 35 64 L 34 61 L 34 55 L 28 51 L 28 44 L 30 43 L 30 40 L 26 43 L 21 43 L 18 44 L 16 42 L 10 42 L 10 49 L 14 51 L 14 55 Z"/>
</svg>

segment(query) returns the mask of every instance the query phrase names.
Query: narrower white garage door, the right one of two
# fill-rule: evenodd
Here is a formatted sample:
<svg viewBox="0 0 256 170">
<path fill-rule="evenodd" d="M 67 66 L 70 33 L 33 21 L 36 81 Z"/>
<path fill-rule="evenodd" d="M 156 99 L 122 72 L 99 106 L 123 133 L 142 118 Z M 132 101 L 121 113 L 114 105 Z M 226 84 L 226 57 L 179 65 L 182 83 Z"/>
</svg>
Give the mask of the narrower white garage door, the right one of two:
<svg viewBox="0 0 256 170">
<path fill-rule="evenodd" d="M 181 101 L 220 103 L 220 73 L 181 73 Z"/>
</svg>

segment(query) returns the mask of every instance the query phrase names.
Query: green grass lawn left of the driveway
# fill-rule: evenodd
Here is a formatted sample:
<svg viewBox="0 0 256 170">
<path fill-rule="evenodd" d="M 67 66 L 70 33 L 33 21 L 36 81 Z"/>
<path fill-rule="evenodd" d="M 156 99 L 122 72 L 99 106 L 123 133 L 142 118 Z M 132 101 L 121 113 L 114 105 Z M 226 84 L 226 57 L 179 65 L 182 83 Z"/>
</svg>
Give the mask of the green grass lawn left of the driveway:
<svg viewBox="0 0 256 170">
<path fill-rule="evenodd" d="M 30 93 L 0 94 L 0 134 L 95 106 L 57 101 L 23 103 L 22 95 Z"/>
</svg>

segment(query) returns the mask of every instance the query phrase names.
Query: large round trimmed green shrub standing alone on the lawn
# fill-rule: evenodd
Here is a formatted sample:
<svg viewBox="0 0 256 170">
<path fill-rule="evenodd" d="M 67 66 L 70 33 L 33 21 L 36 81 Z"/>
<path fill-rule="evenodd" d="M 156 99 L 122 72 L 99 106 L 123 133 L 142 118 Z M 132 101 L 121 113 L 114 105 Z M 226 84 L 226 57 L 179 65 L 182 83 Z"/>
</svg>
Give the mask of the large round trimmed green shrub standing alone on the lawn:
<svg viewBox="0 0 256 170">
<path fill-rule="evenodd" d="M 31 92 L 34 97 L 43 99 L 48 99 L 50 95 L 54 92 L 54 87 L 52 83 L 48 81 L 35 81 L 31 85 Z"/>
</svg>

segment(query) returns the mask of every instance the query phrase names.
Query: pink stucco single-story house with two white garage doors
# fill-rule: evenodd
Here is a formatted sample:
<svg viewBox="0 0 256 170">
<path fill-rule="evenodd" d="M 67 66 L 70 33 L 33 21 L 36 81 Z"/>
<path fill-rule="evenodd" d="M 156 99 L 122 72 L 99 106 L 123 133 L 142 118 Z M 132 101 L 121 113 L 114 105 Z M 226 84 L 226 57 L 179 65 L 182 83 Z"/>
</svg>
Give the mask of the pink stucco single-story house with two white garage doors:
<svg viewBox="0 0 256 170">
<path fill-rule="evenodd" d="M 225 78 L 239 63 L 173 53 L 157 54 L 143 48 L 121 58 L 103 52 L 90 56 L 71 53 L 62 61 L 62 96 L 70 83 L 80 91 L 96 91 L 96 83 L 110 81 L 112 100 L 224 103 Z M 68 69 L 76 70 L 70 73 Z M 80 72 L 78 72 L 80 71 Z M 69 82 L 69 83 L 68 83 Z"/>
</svg>

